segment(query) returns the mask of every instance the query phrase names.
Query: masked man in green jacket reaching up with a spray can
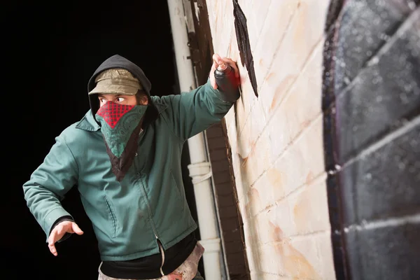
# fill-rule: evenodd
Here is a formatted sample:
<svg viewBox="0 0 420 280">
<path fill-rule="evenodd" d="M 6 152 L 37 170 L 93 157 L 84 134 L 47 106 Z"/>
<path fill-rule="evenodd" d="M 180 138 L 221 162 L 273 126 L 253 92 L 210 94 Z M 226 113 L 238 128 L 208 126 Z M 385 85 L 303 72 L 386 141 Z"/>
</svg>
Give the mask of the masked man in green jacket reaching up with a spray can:
<svg viewBox="0 0 420 280">
<path fill-rule="evenodd" d="M 55 139 L 23 185 L 53 255 L 56 242 L 83 234 L 60 203 L 77 185 L 98 241 L 99 279 L 202 279 L 197 263 L 204 248 L 193 235 L 181 151 L 232 107 L 217 90 L 214 70 L 228 64 L 238 77 L 237 66 L 213 59 L 205 85 L 165 97 L 151 96 L 144 72 L 120 55 L 94 71 L 90 111 Z"/>
</svg>

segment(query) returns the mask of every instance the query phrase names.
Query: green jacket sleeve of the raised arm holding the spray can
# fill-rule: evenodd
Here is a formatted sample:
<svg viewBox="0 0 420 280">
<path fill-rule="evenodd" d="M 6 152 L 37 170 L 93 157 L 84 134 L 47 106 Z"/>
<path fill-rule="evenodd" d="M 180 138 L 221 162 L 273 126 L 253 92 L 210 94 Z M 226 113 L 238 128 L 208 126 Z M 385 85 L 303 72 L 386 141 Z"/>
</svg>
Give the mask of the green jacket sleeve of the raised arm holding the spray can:
<svg viewBox="0 0 420 280">
<path fill-rule="evenodd" d="M 172 113 L 172 118 L 165 118 L 166 122 L 182 140 L 220 121 L 235 103 L 224 101 L 221 92 L 214 90 L 210 80 L 195 90 L 165 96 L 161 100 Z"/>
</svg>

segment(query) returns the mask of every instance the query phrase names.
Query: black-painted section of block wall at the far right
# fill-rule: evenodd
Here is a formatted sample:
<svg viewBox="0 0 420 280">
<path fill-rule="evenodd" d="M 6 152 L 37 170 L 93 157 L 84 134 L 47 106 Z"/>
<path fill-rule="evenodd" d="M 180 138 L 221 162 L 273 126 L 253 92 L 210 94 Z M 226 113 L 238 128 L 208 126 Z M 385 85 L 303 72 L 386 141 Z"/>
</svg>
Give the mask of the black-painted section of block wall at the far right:
<svg viewBox="0 0 420 280">
<path fill-rule="evenodd" d="M 336 276 L 420 279 L 420 1 L 331 3 L 323 111 Z"/>
</svg>

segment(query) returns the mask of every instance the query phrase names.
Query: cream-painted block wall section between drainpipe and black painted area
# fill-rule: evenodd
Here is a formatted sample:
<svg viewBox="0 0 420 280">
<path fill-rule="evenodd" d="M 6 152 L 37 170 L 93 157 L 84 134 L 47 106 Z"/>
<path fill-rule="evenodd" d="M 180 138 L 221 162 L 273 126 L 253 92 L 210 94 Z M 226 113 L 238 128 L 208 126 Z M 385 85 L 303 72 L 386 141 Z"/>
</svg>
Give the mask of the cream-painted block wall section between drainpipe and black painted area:
<svg viewBox="0 0 420 280">
<path fill-rule="evenodd" d="M 231 0 L 207 0 L 214 51 L 237 60 L 226 116 L 252 279 L 335 279 L 323 158 L 328 0 L 239 0 L 258 97 L 239 57 Z"/>
</svg>

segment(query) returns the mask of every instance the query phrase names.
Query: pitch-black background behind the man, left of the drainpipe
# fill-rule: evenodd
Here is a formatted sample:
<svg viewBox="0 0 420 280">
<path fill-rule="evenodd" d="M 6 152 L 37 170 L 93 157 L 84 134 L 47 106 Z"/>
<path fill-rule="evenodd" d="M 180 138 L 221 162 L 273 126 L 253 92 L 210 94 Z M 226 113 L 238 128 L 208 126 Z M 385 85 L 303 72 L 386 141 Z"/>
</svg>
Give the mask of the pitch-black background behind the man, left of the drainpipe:
<svg viewBox="0 0 420 280">
<path fill-rule="evenodd" d="M 151 94 L 179 93 L 167 1 L 86 3 L 1 4 L 0 279 L 97 279 L 97 241 L 77 188 L 63 204 L 85 234 L 58 244 L 57 257 L 22 191 L 55 137 L 89 109 L 87 81 L 97 66 L 123 55 L 144 69 Z"/>
</svg>

